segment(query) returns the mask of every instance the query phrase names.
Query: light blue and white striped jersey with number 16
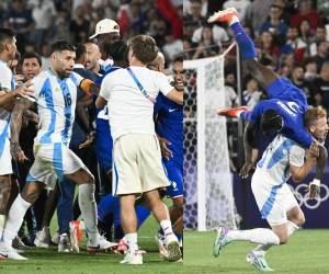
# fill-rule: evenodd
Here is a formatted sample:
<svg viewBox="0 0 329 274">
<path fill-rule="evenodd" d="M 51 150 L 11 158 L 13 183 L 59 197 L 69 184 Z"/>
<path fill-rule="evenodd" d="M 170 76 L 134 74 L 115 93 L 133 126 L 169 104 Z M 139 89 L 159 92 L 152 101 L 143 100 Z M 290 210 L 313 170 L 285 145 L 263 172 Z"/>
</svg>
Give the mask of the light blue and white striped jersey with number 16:
<svg viewBox="0 0 329 274">
<path fill-rule="evenodd" d="M 76 72 L 71 72 L 69 78 L 60 79 L 49 69 L 33 78 L 31 89 L 37 100 L 39 118 L 34 144 L 70 142 L 77 87 L 82 80 Z"/>
</svg>

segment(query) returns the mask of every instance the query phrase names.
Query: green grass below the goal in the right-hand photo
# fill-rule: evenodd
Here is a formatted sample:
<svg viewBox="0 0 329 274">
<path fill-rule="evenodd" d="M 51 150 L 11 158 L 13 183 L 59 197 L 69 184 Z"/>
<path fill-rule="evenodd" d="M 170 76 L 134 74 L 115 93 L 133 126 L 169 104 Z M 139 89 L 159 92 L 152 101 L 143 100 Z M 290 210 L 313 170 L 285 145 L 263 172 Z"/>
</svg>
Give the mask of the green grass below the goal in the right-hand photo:
<svg viewBox="0 0 329 274">
<path fill-rule="evenodd" d="M 232 242 L 218 258 L 212 255 L 215 232 L 184 232 L 184 273 L 259 273 L 246 262 L 254 244 Z M 273 247 L 266 254 L 275 273 L 328 274 L 329 230 L 297 231 L 285 246 Z"/>
</svg>

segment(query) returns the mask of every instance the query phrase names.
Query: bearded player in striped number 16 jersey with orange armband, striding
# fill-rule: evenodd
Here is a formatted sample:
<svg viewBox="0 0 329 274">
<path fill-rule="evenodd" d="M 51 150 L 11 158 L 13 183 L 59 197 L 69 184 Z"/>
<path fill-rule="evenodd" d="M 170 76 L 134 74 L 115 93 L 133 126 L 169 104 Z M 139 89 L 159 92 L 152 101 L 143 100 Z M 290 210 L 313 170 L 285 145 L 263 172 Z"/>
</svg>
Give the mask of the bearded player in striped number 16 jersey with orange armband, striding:
<svg viewBox="0 0 329 274">
<path fill-rule="evenodd" d="M 35 161 L 30 170 L 29 182 L 10 208 L 0 242 L 0 254 L 15 260 L 26 260 L 11 248 L 27 208 L 45 186 L 53 189 L 56 180 L 64 176 L 79 185 L 79 204 L 87 227 L 87 250 L 90 253 L 107 250 L 112 243 L 104 240 L 97 228 L 94 179 L 82 161 L 68 148 L 75 121 L 77 87 L 91 95 L 97 92 L 92 81 L 72 72 L 75 47 L 64 41 L 52 48 L 52 67 L 32 80 L 33 98 L 15 102 L 11 122 L 11 153 L 19 161 L 26 159 L 19 145 L 22 113 L 33 102 L 37 103 L 38 132 L 34 140 Z"/>
</svg>

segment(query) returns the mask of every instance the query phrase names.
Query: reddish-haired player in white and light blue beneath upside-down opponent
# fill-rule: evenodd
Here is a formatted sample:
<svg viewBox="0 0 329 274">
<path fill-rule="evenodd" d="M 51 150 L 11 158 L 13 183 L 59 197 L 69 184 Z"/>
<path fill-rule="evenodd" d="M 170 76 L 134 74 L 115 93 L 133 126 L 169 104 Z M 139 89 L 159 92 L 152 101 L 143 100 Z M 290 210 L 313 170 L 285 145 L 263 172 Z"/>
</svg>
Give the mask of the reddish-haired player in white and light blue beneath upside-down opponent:
<svg viewBox="0 0 329 274">
<path fill-rule="evenodd" d="M 266 114 L 268 112 L 264 115 Z M 329 127 L 324 109 L 307 110 L 305 125 L 316 139 L 326 139 Z M 251 181 L 258 208 L 272 230 L 268 228 L 250 230 L 219 228 L 214 244 L 214 255 L 218 256 L 223 248 L 231 241 L 259 243 L 248 253 L 247 261 L 260 271 L 271 271 L 264 258 L 265 252 L 272 246 L 286 243 L 291 235 L 305 222 L 305 216 L 286 182 L 290 176 L 295 182 L 302 181 L 316 163 L 318 153 L 318 146 L 313 142 L 304 162 L 305 149 L 294 140 L 279 134 L 257 163 Z"/>
</svg>

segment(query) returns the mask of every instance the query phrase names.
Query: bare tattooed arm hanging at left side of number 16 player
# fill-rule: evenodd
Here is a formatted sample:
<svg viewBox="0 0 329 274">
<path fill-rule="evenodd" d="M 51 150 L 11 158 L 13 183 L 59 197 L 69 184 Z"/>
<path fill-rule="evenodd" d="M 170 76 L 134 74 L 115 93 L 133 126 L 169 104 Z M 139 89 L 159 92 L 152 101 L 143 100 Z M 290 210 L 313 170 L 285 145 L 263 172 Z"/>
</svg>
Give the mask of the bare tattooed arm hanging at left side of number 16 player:
<svg viewBox="0 0 329 274">
<path fill-rule="evenodd" d="M 22 118 L 23 113 L 30 109 L 30 106 L 33 104 L 27 99 L 19 99 L 15 102 L 14 109 L 11 113 L 11 123 L 10 123 L 10 130 L 11 130 L 11 140 L 10 140 L 10 151 L 12 157 L 23 162 L 25 160 L 29 160 L 26 156 L 24 155 L 24 151 L 20 147 L 20 133 L 22 128 Z"/>
</svg>

